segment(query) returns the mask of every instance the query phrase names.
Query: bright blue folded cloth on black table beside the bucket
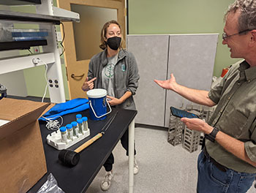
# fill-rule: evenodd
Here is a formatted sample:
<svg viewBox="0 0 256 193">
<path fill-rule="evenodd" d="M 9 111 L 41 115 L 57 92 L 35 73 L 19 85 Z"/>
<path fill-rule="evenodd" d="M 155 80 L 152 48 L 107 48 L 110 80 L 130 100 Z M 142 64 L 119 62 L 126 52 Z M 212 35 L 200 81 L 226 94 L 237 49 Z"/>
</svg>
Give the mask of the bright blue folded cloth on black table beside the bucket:
<svg viewBox="0 0 256 193">
<path fill-rule="evenodd" d="M 88 102 L 89 102 L 88 99 L 78 98 L 78 99 L 72 99 L 67 102 L 56 104 L 50 110 L 48 110 L 48 112 L 46 112 L 43 116 L 41 116 L 38 120 L 46 121 L 45 118 L 50 118 L 50 120 L 55 120 L 59 118 L 59 116 L 64 116 L 69 113 L 76 113 L 79 111 L 89 109 Z"/>
</svg>

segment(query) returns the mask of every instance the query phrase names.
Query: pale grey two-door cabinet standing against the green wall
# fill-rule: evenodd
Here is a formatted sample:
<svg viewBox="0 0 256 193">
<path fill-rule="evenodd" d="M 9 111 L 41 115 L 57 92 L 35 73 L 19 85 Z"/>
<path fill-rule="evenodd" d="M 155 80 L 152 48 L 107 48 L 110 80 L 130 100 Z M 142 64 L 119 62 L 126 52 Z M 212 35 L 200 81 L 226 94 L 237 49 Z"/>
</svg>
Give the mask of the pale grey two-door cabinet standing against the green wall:
<svg viewBox="0 0 256 193">
<path fill-rule="evenodd" d="M 177 83 L 209 90 L 213 76 L 218 34 L 128 35 L 127 48 L 135 55 L 140 74 L 135 95 L 135 122 L 169 125 L 170 106 L 190 104 L 173 91 L 166 91 L 154 79 L 166 80 L 170 73 Z"/>
</svg>

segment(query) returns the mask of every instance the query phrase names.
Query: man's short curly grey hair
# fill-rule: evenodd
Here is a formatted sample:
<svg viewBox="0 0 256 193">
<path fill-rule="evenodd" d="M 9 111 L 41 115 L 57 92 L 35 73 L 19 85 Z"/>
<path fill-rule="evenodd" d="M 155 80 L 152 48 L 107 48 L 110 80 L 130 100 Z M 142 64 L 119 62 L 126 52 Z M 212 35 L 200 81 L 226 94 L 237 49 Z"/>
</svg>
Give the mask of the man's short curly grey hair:
<svg viewBox="0 0 256 193">
<path fill-rule="evenodd" d="M 227 9 L 225 20 L 230 12 L 241 11 L 238 18 L 238 31 L 256 29 L 256 0 L 236 0 Z"/>
</svg>

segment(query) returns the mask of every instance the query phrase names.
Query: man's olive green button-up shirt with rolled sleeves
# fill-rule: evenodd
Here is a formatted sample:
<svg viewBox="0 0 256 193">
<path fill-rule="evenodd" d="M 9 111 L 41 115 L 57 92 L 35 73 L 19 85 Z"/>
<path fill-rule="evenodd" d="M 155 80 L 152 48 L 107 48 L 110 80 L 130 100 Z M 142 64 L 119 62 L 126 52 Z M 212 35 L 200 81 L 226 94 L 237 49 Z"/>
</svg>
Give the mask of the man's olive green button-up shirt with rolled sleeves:
<svg viewBox="0 0 256 193">
<path fill-rule="evenodd" d="M 233 64 L 208 96 L 217 104 L 208 124 L 244 142 L 247 156 L 256 162 L 256 67 L 250 68 L 246 61 Z M 212 158 L 227 168 L 256 173 L 256 167 L 226 151 L 217 142 L 206 139 L 206 149 Z"/>
</svg>

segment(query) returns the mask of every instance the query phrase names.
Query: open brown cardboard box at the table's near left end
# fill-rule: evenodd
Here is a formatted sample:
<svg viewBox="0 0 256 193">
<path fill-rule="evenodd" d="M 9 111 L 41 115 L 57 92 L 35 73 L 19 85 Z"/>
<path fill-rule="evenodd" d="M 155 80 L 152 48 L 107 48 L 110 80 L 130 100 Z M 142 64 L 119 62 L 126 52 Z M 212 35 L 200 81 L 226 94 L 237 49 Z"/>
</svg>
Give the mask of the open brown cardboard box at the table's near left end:
<svg viewBox="0 0 256 193">
<path fill-rule="evenodd" d="M 47 173 L 37 118 L 48 103 L 0 100 L 0 190 L 27 192 Z M 4 123 L 4 122 L 2 122 Z"/>
</svg>

